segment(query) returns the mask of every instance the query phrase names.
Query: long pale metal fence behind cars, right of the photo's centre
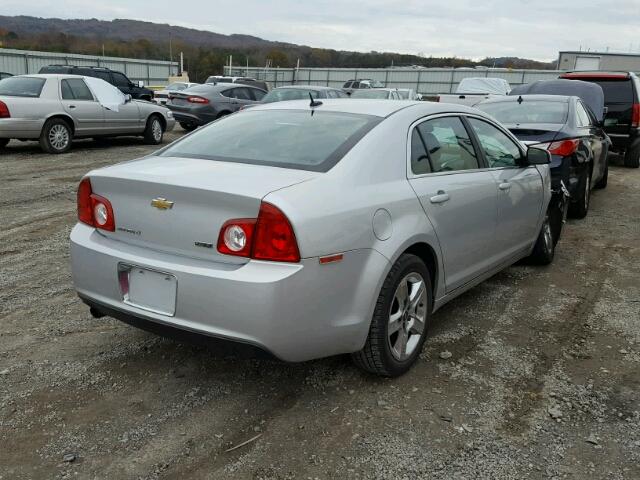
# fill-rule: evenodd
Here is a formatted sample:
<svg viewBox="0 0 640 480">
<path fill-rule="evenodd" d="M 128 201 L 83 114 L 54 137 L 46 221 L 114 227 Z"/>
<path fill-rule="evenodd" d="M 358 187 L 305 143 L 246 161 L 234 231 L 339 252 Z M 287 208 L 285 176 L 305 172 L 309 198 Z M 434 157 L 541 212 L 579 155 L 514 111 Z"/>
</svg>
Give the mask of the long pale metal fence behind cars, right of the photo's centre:
<svg viewBox="0 0 640 480">
<path fill-rule="evenodd" d="M 504 78 L 512 86 L 535 80 L 558 78 L 559 70 L 509 70 L 504 68 L 256 68 L 225 67 L 225 75 L 266 80 L 273 87 L 282 85 L 326 85 L 340 88 L 350 79 L 370 78 L 387 87 L 412 88 L 418 93 L 453 93 L 466 77 Z"/>
</svg>

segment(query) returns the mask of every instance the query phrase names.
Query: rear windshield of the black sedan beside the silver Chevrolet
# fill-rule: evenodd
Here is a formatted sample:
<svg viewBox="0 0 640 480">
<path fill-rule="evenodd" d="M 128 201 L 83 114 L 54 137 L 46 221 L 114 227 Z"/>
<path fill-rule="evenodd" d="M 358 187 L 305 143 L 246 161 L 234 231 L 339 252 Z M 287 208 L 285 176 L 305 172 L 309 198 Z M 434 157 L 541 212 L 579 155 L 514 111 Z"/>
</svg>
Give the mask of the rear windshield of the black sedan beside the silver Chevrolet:
<svg viewBox="0 0 640 480">
<path fill-rule="evenodd" d="M 501 123 L 560 123 L 567 121 L 568 103 L 541 100 L 481 103 L 476 108 Z"/>
</svg>

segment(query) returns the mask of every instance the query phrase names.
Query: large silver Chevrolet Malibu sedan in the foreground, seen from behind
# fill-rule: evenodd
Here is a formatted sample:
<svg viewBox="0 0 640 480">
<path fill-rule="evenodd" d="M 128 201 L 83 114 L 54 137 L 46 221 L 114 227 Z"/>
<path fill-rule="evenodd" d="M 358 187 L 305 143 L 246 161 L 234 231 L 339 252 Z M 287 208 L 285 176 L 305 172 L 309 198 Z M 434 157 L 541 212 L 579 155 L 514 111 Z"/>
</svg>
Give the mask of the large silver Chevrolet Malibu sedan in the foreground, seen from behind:
<svg viewBox="0 0 640 480">
<path fill-rule="evenodd" d="M 435 310 L 552 260 L 547 151 L 468 107 L 318 103 L 259 105 L 89 172 L 71 259 L 94 316 L 395 376 Z"/>
</svg>

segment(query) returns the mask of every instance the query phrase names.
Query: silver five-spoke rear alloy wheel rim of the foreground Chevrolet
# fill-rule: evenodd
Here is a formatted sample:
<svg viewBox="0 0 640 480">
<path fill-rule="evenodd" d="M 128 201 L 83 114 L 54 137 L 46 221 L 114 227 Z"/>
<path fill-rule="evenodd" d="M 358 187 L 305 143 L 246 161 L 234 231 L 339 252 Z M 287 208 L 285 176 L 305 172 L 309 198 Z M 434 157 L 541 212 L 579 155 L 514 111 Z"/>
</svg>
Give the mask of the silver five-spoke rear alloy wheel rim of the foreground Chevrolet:
<svg viewBox="0 0 640 480">
<path fill-rule="evenodd" d="M 398 284 L 387 326 L 387 341 L 396 360 L 409 358 L 425 331 L 427 288 L 417 272 L 407 274 Z"/>
</svg>

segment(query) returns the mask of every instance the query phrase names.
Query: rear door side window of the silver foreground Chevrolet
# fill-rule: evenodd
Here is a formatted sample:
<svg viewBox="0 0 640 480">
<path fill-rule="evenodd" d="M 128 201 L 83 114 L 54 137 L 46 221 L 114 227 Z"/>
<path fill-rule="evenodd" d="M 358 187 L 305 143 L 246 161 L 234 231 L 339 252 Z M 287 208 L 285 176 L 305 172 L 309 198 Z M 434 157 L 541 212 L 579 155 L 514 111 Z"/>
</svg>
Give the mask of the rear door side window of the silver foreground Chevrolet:
<svg viewBox="0 0 640 480">
<path fill-rule="evenodd" d="M 424 144 L 431 172 L 453 172 L 479 168 L 478 156 L 460 118 L 442 117 L 427 120 L 418 125 L 415 130 L 418 131 L 419 138 Z M 413 164 L 412 159 L 412 168 Z M 414 169 L 413 173 L 428 173 L 424 169 L 425 167 Z"/>
</svg>

